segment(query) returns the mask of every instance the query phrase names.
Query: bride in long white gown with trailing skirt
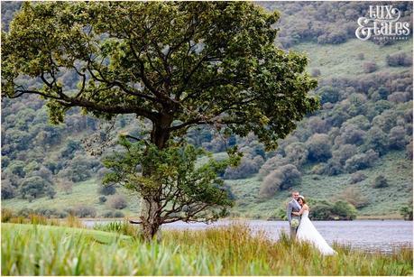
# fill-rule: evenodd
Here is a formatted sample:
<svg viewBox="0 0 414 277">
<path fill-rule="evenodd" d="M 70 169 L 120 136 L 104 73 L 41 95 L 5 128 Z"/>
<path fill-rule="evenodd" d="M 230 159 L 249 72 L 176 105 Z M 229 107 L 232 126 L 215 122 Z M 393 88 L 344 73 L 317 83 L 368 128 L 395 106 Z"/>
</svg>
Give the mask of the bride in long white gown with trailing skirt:
<svg viewBox="0 0 414 277">
<path fill-rule="evenodd" d="M 322 254 L 336 254 L 336 251 L 327 244 L 327 241 L 322 237 L 322 235 L 319 234 L 319 232 L 317 232 L 317 228 L 315 228 L 313 223 L 310 221 L 308 217 L 309 207 L 306 204 L 305 198 L 303 196 L 299 196 L 298 202 L 302 208 L 299 212 L 292 212 L 295 216 L 302 216 L 296 235 L 298 240 L 307 241 L 315 245 Z"/>
</svg>

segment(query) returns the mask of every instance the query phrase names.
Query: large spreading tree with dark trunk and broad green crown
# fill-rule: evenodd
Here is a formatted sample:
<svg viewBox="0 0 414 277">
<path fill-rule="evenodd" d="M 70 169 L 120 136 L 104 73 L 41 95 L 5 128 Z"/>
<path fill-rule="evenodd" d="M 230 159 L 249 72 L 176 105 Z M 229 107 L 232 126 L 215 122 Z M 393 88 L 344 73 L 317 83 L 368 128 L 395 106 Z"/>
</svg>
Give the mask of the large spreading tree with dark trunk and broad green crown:
<svg viewBox="0 0 414 277">
<path fill-rule="evenodd" d="M 253 133 L 272 149 L 318 106 L 307 58 L 273 43 L 278 19 L 246 2 L 24 3 L 2 33 L 2 95 L 40 95 L 55 124 L 74 106 L 134 114 L 152 123 L 145 145 L 159 152 L 195 125 Z M 65 91 L 68 72 L 78 89 Z M 151 179 L 157 164 L 142 172 Z M 161 217 L 158 181 L 142 195 L 147 237 Z"/>
</svg>

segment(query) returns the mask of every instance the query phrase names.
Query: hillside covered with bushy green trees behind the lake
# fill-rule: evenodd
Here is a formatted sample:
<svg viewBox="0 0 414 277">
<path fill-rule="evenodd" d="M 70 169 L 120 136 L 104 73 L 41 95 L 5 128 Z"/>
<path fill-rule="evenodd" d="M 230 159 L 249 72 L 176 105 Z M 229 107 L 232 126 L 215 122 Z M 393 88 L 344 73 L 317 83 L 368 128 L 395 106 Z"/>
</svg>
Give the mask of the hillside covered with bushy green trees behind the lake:
<svg viewBox="0 0 414 277">
<path fill-rule="evenodd" d="M 189 142 L 217 159 L 235 144 L 244 152 L 241 164 L 222 176 L 235 198 L 231 216 L 282 217 L 290 189 L 299 189 L 315 218 L 400 217 L 401 208 L 412 207 L 412 37 L 355 39 L 367 3 L 259 4 L 281 12 L 276 43 L 307 53 L 321 108 L 274 152 L 253 135 L 224 139 L 214 128 L 189 131 Z M 20 5 L 2 2 L 2 30 Z M 412 22 L 412 4 L 392 5 Z M 69 72 L 60 79 L 68 88 L 77 84 Z M 136 215 L 132 195 L 100 185 L 107 172 L 101 159 L 116 151 L 117 134 L 139 134 L 143 124 L 132 115 L 107 123 L 72 109 L 64 124 L 51 125 L 43 104 L 38 97 L 2 97 L 3 207 L 23 215 L 28 208 L 57 217 Z"/>
</svg>

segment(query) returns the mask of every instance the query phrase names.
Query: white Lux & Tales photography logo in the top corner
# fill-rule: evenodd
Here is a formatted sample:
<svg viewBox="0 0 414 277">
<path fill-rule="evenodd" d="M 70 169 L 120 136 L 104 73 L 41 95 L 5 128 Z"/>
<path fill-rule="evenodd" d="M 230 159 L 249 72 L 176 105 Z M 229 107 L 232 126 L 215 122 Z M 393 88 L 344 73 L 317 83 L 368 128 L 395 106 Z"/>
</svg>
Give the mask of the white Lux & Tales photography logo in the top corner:
<svg viewBox="0 0 414 277">
<path fill-rule="evenodd" d="M 369 17 L 358 18 L 355 35 L 361 41 L 407 40 L 408 22 L 400 22 L 400 10 L 392 5 L 370 5 Z"/>
</svg>

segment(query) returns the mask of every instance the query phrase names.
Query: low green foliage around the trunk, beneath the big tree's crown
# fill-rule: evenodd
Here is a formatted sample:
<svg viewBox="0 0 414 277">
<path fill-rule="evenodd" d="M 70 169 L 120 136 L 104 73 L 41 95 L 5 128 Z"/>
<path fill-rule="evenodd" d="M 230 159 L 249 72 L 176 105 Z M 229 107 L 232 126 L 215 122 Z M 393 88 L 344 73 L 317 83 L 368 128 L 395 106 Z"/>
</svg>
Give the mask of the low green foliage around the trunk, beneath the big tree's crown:
<svg viewBox="0 0 414 277">
<path fill-rule="evenodd" d="M 224 182 L 217 174 L 238 162 L 238 156 L 222 161 L 210 157 L 208 162 L 196 167 L 198 158 L 206 152 L 191 144 L 170 143 L 169 147 L 160 150 L 144 142 L 131 143 L 124 136 L 120 137 L 119 143 L 125 152 L 104 160 L 104 165 L 111 170 L 106 174 L 104 184 L 120 184 L 139 192 L 143 198 L 161 190 L 161 220 L 199 218 L 208 221 L 225 215 L 225 208 L 232 204 Z M 139 165 L 151 174 L 137 171 Z"/>
</svg>

